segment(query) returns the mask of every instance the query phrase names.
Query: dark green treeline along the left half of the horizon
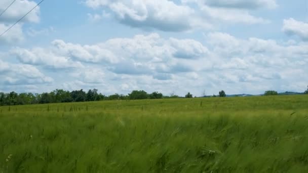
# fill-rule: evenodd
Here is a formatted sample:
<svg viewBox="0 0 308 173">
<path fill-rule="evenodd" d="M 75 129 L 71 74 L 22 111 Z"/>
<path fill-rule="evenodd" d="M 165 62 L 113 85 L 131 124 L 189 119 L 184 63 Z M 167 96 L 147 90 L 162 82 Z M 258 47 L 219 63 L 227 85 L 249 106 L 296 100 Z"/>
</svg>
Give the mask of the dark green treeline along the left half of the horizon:
<svg viewBox="0 0 308 173">
<path fill-rule="evenodd" d="M 28 104 L 46 104 L 46 103 L 66 103 L 66 102 L 88 102 L 102 100 L 137 100 L 137 99 L 162 99 L 178 98 L 178 96 L 163 96 L 162 93 L 153 92 L 151 94 L 145 91 L 132 91 L 128 95 L 113 94 L 105 96 L 98 93 L 96 89 L 85 92 L 83 90 L 64 91 L 55 90 L 50 93 L 32 94 L 32 93 L 0 93 L 0 106 L 28 105 Z"/>
</svg>

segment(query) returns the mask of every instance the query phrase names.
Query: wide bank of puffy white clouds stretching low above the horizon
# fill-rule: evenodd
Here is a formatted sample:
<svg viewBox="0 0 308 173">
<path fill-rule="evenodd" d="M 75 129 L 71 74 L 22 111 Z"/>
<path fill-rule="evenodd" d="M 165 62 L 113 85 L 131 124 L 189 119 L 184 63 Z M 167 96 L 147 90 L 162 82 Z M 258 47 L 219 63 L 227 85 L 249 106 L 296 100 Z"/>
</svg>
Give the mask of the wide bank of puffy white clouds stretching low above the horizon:
<svg viewBox="0 0 308 173">
<path fill-rule="evenodd" d="M 107 94 L 133 89 L 185 94 L 187 89 L 201 93 L 205 88 L 216 93 L 219 86 L 228 93 L 264 92 L 263 85 L 272 81 L 288 83 L 304 78 L 299 72 L 290 73 L 292 69 L 308 70 L 306 42 L 240 39 L 221 32 L 206 34 L 202 42 L 163 38 L 157 33 L 112 38 L 94 45 L 54 40 L 50 47 L 16 48 L 10 55 L 37 68 L 66 69 L 57 71 L 59 75 L 70 75 L 61 85 L 65 89 L 98 88 Z M 80 67 L 73 66 L 76 64 Z M 10 68 L 8 63 L 0 64 L 1 73 Z M 7 83 L 18 83 L 14 76 L 6 77 Z M 280 85 L 271 87 L 282 89 Z"/>
</svg>

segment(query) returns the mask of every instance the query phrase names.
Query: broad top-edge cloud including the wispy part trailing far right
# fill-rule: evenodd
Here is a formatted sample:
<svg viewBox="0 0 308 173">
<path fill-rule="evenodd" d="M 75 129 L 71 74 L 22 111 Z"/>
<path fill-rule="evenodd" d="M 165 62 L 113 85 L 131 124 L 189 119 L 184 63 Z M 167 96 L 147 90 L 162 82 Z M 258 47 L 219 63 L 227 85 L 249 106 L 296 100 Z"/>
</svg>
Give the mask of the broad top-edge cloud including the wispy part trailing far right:
<svg viewBox="0 0 308 173">
<path fill-rule="evenodd" d="M 182 0 L 181 2 L 86 0 L 85 4 L 93 9 L 103 9 L 103 13 L 104 10 L 108 10 L 114 19 L 131 27 L 172 32 L 212 29 L 221 21 L 245 24 L 269 23 L 269 20 L 251 15 L 250 11 L 275 9 L 278 6 L 276 0 Z M 88 14 L 91 21 L 98 21 L 102 16 Z"/>
</svg>

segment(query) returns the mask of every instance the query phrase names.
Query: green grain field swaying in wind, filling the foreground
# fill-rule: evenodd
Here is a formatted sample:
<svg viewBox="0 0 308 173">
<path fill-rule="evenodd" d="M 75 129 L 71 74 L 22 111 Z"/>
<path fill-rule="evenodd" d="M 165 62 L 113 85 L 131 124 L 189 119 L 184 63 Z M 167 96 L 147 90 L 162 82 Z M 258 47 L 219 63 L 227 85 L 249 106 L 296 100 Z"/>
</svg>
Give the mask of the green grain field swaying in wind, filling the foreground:
<svg viewBox="0 0 308 173">
<path fill-rule="evenodd" d="M 308 172 L 308 97 L 0 107 L 0 172 Z"/>
</svg>

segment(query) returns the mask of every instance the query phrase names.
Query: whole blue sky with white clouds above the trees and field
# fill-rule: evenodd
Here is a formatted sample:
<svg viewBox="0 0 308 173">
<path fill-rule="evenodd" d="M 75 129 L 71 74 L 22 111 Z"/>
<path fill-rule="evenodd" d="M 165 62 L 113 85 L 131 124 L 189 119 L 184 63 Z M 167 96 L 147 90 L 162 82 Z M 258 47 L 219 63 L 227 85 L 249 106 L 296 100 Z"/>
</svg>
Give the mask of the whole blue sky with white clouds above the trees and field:
<svg viewBox="0 0 308 173">
<path fill-rule="evenodd" d="M 0 92 L 303 92 L 307 72 L 307 0 L 45 0 L 0 37 Z"/>
</svg>

